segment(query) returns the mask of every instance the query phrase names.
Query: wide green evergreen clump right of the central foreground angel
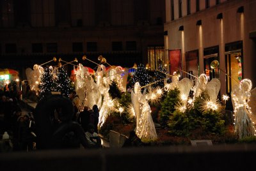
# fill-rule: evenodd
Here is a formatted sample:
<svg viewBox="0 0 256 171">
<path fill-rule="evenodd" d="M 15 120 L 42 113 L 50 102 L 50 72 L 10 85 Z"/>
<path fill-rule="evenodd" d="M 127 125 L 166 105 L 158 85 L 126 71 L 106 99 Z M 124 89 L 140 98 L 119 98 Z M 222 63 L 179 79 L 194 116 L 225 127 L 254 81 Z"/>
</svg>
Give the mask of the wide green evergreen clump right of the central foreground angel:
<svg viewBox="0 0 256 171">
<path fill-rule="evenodd" d="M 179 136 L 224 135 L 227 128 L 223 114 L 219 110 L 204 110 L 202 105 L 206 100 L 206 94 L 195 99 L 194 107 L 185 112 L 175 110 L 168 120 L 168 132 Z M 199 130 L 198 130 L 199 129 Z M 193 132 L 193 130 L 196 130 Z"/>
</svg>

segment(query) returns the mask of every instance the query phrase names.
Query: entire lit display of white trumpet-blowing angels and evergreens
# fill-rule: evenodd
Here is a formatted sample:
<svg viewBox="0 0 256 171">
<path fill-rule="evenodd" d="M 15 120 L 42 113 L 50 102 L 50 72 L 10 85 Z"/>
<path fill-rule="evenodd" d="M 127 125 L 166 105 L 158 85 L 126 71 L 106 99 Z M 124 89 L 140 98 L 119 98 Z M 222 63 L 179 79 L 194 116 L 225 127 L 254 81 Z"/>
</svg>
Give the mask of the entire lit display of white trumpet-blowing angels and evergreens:
<svg viewBox="0 0 256 171">
<path fill-rule="evenodd" d="M 83 60 L 91 61 L 86 56 L 83 56 Z M 208 81 L 207 76 L 202 73 L 198 78 L 193 76 L 196 80 L 193 85 L 189 78 L 179 80 L 179 71 L 169 75 L 163 64 L 159 64 L 158 70 L 154 73 L 146 70 L 143 64 L 139 64 L 138 68 L 132 68 L 133 71 L 130 73 L 131 68 L 111 66 L 105 57 L 99 56 L 98 60 L 99 64 L 91 61 L 97 64 L 97 70 L 92 71 L 81 63 L 75 65 L 72 64 L 73 61 L 59 59 L 60 62 L 74 66 L 72 81 L 79 96 L 80 110 L 84 107 L 91 109 L 93 105 L 99 107 L 99 129 L 106 128 L 103 124 L 111 115 L 112 118 L 118 117 L 117 121 L 122 124 L 136 121 L 135 133 L 142 142 L 157 140 L 156 120 L 157 124 L 161 124 L 159 128 L 166 128 L 175 136 L 189 136 L 195 129 L 216 135 L 225 132 L 225 121 L 218 99 L 221 83 L 217 78 Z M 77 59 L 74 61 L 77 62 Z M 211 67 L 216 68 L 217 62 L 211 63 Z M 67 71 L 63 67 L 65 64 L 55 68 L 43 68 L 35 64 L 33 70 L 26 70 L 29 85 L 31 89 L 38 91 L 40 100 L 44 93 L 49 91 L 58 91 L 68 97 L 72 87 Z M 108 67 L 104 64 L 108 64 Z M 150 82 L 150 78 L 153 77 Z M 253 105 L 256 101 L 256 90 L 251 89 L 252 82 L 249 79 L 243 79 L 237 87 L 232 87 L 234 128 L 239 138 L 255 135 L 256 116 L 250 107 L 255 111 Z M 223 95 L 223 101 L 227 101 L 228 98 L 230 97 Z M 153 117 L 155 123 L 150 105 L 152 111 L 157 111 L 157 117 Z M 159 112 L 156 106 L 159 107 Z"/>
</svg>

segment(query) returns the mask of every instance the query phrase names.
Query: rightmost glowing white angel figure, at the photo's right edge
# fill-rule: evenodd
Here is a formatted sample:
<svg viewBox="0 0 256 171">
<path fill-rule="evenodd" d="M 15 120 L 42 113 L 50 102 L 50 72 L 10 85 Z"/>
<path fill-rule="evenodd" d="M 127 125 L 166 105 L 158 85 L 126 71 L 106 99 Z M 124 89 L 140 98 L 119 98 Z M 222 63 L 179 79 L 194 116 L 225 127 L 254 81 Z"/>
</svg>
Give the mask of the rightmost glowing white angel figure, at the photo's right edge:
<svg viewBox="0 0 256 171">
<path fill-rule="evenodd" d="M 235 133 L 239 138 L 250 137 L 255 135 L 255 128 L 249 115 L 251 112 L 248 105 L 250 100 L 250 90 L 252 89 L 252 81 L 243 79 L 239 86 L 233 88 L 231 93 L 232 100 L 234 101 L 235 113 Z"/>
</svg>

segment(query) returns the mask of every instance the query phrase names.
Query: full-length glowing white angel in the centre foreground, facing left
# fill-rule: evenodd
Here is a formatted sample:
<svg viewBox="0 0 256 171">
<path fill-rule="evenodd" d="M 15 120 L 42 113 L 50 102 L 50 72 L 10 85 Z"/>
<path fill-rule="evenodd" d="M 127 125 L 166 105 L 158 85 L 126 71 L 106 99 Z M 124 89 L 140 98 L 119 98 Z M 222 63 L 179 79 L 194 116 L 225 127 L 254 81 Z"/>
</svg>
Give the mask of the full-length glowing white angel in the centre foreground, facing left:
<svg viewBox="0 0 256 171">
<path fill-rule="evenodd" d="M 131 93 L 132 106 L 136 117 L 135 133 L 142 142 L 154 141 L 157 139 L 156 128 L 151 116 L 150 105 L 146 99 L 145 92 L 140 91 L 140 83 L 134 84 L 134 91 Z"/>
</svg>

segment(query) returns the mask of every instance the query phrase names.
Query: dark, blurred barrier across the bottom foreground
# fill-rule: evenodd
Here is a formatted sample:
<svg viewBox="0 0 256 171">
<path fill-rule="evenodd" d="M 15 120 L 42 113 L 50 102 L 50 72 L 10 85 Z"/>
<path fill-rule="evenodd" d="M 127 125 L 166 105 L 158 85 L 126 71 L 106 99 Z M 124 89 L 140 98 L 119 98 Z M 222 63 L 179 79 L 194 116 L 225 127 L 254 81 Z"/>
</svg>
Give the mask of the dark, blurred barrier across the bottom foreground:
<svg viewBox="0 0 256 171">
<path fill-rule="evenodd" d="M 170 146 L 0 154 L 8 170 L 246 170 L 254 168 L 256 145 Z"/>
</svg>

